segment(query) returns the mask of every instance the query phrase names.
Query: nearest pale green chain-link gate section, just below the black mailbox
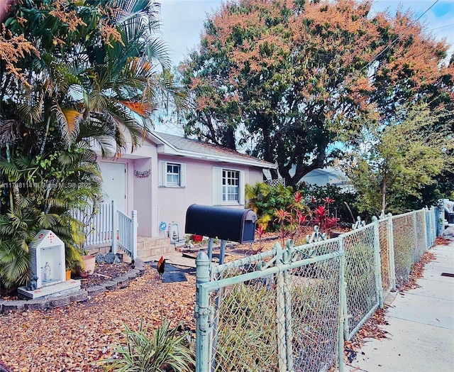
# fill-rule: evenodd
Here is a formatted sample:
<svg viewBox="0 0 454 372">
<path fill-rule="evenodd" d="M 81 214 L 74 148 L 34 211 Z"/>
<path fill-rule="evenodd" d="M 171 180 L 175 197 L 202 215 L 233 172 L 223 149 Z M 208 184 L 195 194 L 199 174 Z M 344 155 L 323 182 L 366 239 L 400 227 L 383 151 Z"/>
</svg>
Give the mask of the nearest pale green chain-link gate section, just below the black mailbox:
<svg viewBox="0 0 454 372">
<path fill-rule="evenodd" d="M 328 371 L 343 358 L 341 239 L 197 258 L 196 371 Z M 322 347 L 321 347 L 322 346 Z M 341 368 L 343 363 L 341 363 Z"/>
</svg>

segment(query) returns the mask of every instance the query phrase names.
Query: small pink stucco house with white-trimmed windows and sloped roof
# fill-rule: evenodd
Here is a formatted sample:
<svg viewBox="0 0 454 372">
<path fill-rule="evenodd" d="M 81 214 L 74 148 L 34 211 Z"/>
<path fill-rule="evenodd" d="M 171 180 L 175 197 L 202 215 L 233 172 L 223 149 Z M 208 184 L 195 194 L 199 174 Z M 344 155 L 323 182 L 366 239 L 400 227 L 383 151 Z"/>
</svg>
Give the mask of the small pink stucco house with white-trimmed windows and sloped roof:
<svg viewBox="0 0 454 372">
<path fill-rule="evenodd" d="M 244 208 L 245 185 L 262 182 L 263 170 L 276 168 L 228 148 L 157 132 L 121 158 L 98 161 L 106 202 L 114 200 L 128 216 L 137 211 L 139 245 L 141 237 L 167 239 L 170 225 L 184 239 L 191 204 Z"/>
</svg>

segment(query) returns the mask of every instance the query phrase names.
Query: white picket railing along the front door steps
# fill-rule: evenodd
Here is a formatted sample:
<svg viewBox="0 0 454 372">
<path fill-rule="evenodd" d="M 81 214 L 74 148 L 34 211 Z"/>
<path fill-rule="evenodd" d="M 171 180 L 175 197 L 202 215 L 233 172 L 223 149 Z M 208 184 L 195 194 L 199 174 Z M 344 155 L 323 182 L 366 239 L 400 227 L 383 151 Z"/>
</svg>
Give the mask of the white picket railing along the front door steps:
<svg viewBox="0 0 454 372">
<path fill-rule="evenodd" d="M 85 247 L 109 244 L 111 251 L 116 253 L 120 246 L 131 258 L 137 257 L 136 211 L 132 211 L 131 217 L 128 217 L 116 209 L 116 203 L 112 200 L 102 203 L 98 209 L 89 206 L 84 210 L 74 210 L 71 216 L 85 226 Z"/>
</svg>

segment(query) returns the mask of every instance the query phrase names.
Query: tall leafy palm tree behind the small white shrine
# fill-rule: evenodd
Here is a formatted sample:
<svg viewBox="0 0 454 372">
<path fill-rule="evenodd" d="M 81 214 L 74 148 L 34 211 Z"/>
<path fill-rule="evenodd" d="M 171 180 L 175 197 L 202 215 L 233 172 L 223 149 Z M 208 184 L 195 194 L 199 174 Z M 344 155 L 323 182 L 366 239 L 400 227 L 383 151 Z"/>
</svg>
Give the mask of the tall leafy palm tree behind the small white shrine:
<svg viewBox="0 0 454 372">
<path fill-rule="evenodd" d="M 40 229 L 77 258 L 82 226 L 69 211 L 101 199 L 90 143 L 104 156 L 121 155 L 128 139 L 134 150 L 161 98 L 184 97 L 165 73 L 153 1 L 28 0 L 5 25 L 38 50 L 16 63 L 20 78 L 0 61 L 0 285 L 13 288 L 26 283 L 28 243 Z"/>
</svg>

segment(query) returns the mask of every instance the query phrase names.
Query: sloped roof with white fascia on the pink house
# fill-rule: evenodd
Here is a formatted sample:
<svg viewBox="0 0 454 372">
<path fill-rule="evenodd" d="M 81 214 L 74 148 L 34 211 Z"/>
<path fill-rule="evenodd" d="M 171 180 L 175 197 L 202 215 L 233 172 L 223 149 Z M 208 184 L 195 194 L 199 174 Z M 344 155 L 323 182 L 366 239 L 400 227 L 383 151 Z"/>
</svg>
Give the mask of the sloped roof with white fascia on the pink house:
<svg viewBox="0 0 454 372">
<path fill-rule="evenodd" d="M 157 144 L 157 153 L 166 155 L 186 156 L 188 158 L 233 164 L 251 165 L 254 167 L 273 169 L 277 165 L 253 156 L 238 153 L 222 146 L 203 141 L 183 138 L 168 133 L 153 132 L 150 139 Z"/>
</svg>

